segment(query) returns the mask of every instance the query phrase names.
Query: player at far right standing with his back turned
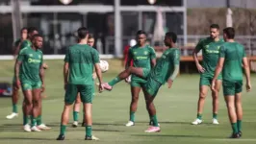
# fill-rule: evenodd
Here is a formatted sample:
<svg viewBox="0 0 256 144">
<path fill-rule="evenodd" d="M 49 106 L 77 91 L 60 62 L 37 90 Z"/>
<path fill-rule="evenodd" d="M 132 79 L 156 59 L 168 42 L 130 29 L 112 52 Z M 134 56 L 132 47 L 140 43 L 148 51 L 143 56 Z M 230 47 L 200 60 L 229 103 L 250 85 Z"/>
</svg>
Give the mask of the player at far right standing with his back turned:
<svg viewBox="0 0 256 144">
<path fill-rule="evenodd" d="M 246 76 L 247 91 L 250 91 L 251 89 L 250 70 L 243 45 L 234 40 L 234 28 L 225 28 L 223 30 L 223 37 L 225 43 L 220 47 L 219 60 L 212 82 L 212 89 L 216 90 L 216 81 L 218 80 L 218 75 L 222 71 L 223 95 L 233 130 L 230 138 L 239 138 L 242 136 L 243 119 L 243 68 Z"/>
</svg>

